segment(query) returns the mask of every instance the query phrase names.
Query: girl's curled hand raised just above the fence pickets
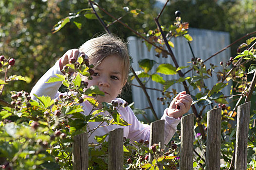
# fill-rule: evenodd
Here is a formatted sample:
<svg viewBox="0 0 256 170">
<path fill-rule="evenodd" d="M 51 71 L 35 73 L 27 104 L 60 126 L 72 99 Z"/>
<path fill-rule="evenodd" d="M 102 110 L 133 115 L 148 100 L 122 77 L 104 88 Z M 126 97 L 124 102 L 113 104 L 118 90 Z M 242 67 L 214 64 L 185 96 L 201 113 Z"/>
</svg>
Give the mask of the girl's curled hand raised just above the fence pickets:
<svg viewBox="0 0 256 170">
<path fill-rule="evenodd" d="M 167 115 L 173 118 L 179 118 L 190 109 L 193 99 L 185 91 L 180 92 L 170 103 L 167 109 Z M 177 107 L 176 107 L 177 106 Z"/>
</svg>

